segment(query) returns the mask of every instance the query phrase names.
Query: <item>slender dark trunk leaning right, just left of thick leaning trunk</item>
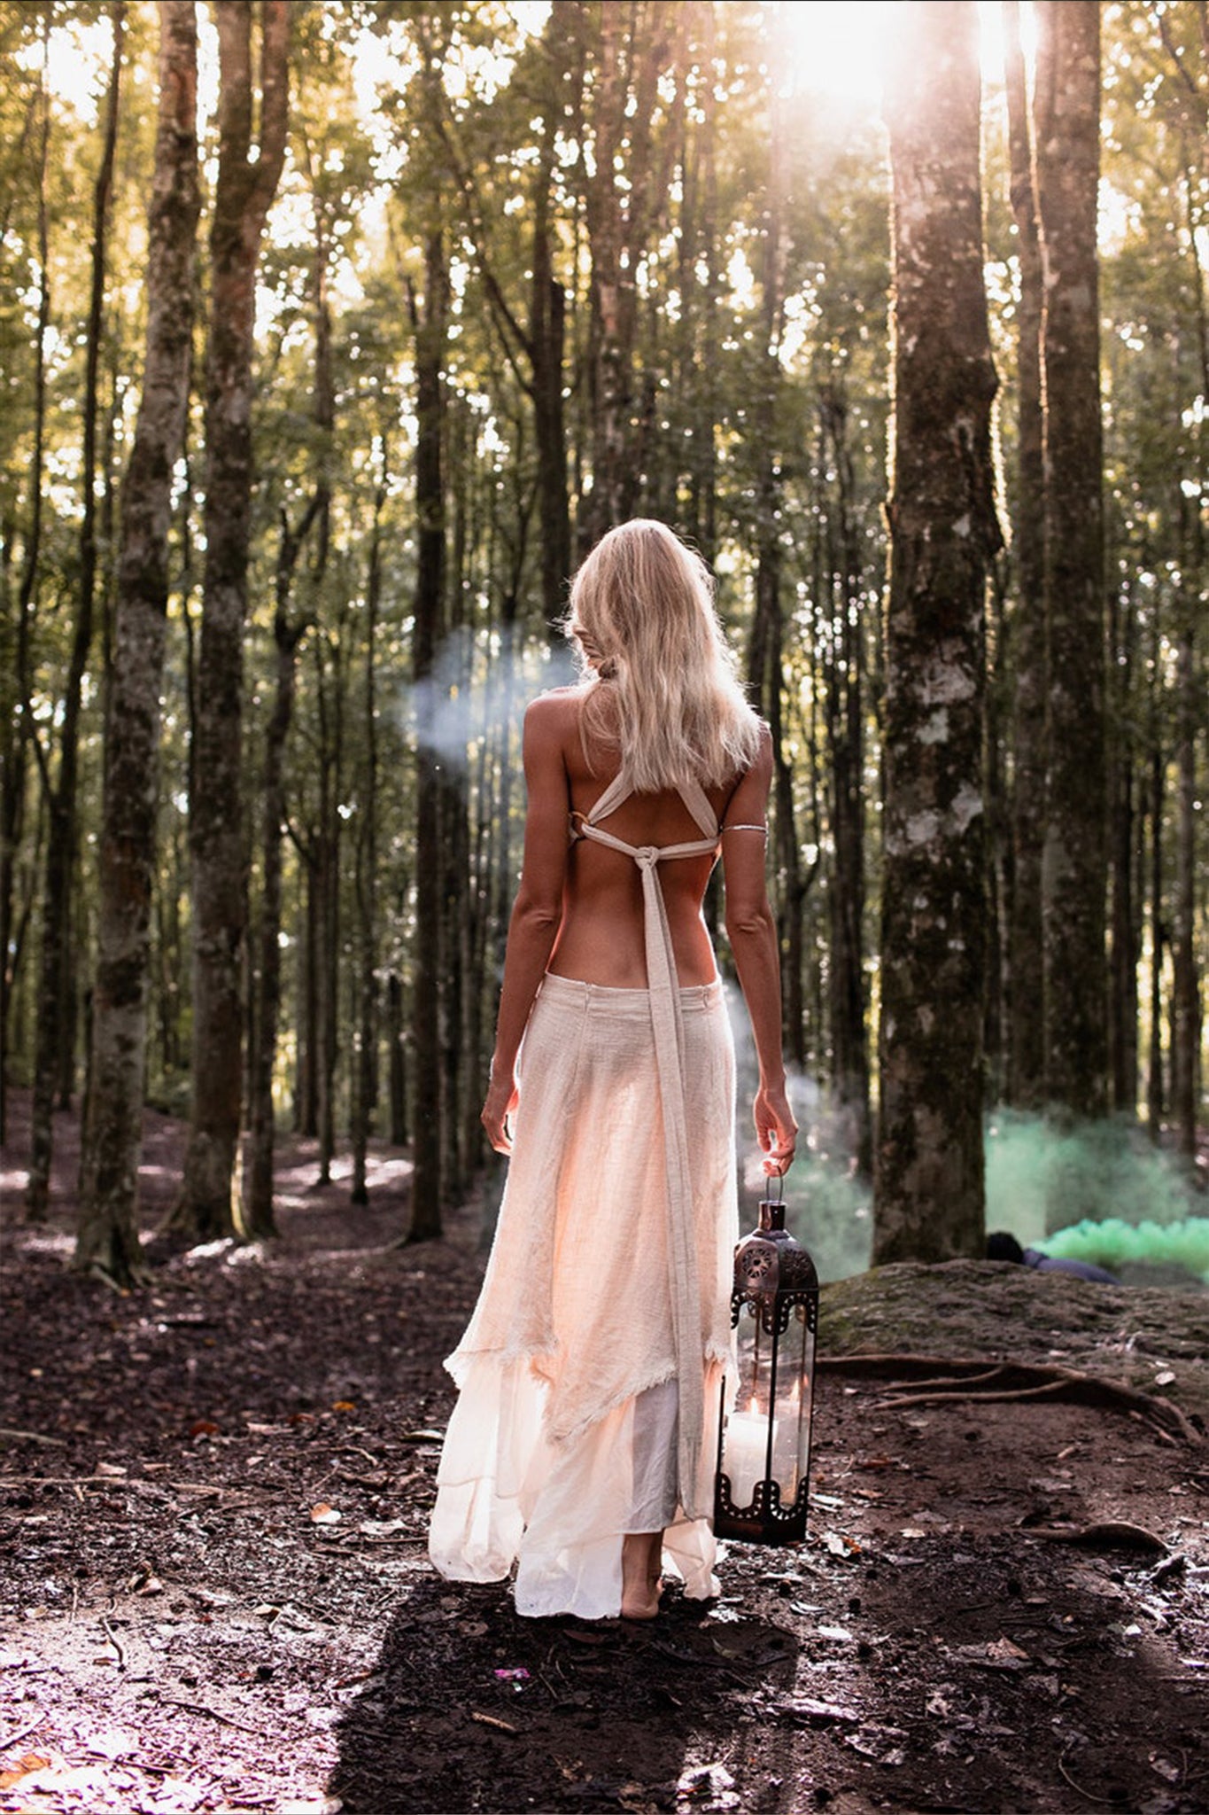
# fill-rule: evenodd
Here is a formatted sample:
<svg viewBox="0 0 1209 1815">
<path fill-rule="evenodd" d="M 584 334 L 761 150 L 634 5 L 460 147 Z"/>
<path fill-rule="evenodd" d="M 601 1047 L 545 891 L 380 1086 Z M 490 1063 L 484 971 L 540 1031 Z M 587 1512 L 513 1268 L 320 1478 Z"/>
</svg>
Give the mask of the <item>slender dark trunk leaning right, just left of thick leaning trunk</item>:
<svg viewBox="0 0 1209 1815">
<path fill-rule="evenodd" d="M 121 85 L 121 40 L 125 31 L 125 4 L 111 7 L 112 64 L 109 74 L 109 105 L 105 113 L 105 140 L 102 165 L 96 174 L 92 201 L 92 287 L 83 378 L 83 457 L 80 485 L 83 490 L 83 517 L 80 525 L 80 592 L 76 623 L 71 641 L 67 684 L 63 688 L 63 722 L 60 730 L 58 777 L 49 800 L 49 837 L 45 886 L 42 897 L 42 962 L 38 976 L 38 1036 L 34 1051 L 34 1087 L 31 1109 L 29 1180 L 25 1185 L 25 1214 L 44 1221 L 51 1194 L 51 1158 L 54 1153 L 54 1096 L 62 1073 L 63 1031 L 71 1024 L 73 973 L 76 953 L 71 951 L 71 884 L 78 840 L 76 779 L 80 768 L 80 711 L 83 704 L 83 673 L 92 648 L 92 606 L 96 592 L 96 394 L 105 314 L 105 250 L 109 240 L 109 198 L 112 191 L 114 151 L 118 145 L 118 94 Z"/>
</svg>

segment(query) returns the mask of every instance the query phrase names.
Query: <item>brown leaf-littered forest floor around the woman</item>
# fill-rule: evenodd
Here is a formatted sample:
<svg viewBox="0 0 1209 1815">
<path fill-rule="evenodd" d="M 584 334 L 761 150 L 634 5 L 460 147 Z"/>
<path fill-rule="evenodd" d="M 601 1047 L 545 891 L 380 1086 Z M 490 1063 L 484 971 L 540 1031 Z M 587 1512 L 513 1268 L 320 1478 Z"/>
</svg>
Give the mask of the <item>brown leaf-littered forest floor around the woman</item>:
<svg viewBox="0 0 1209 1815">
<path fill-rule="evenodd" d="M 69 1269 L 67 1118 L 51 1221 L 24 1225 L 22 1107 L 0 1160 L 4 1815 L 1209 1810 L 1191 1283 L 953 1263 L 828 1287 L 808 1541 L 730 1546 L 720 1601 L 672 1590 L 651 1624 L 522 1621 L 424 1555 L 482 1207 L 401 1245 L 404 1156 L 373 1153 L 355 1211 L 286 1142 L 281 1240 L 185 1251 L 152 1236 L 181 1129 L 149 1116 L 154 1272 L 118 1296 Z M 1051 1383 L 988 1398 L 1035 1379 L 948 1359 Z"/>
</svg>

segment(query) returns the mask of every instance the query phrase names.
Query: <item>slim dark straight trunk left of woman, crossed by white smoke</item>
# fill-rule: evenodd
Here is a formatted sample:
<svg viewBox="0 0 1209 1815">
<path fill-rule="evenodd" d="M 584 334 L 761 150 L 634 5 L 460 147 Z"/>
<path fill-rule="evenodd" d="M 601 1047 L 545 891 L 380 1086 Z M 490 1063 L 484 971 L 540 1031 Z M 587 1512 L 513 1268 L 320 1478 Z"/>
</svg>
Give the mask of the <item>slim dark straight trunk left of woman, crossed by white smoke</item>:
<svg viewBox="0 0 1209 1815">
<path fill-rule="evenodd" d="M 426 247 L 424 305 L 411 296 L 415 330 L 415 519 L 419 525 L 411 673 L 415 679 L 415 962 L 411 1044 L 415 1055 L 415 1138 L 410 1241 L 440 1238 L 440 750 L 435 741 L 435 668 L 444 617 L 444 348 L 448 274 L 433 231 Z"/>
</svg>

